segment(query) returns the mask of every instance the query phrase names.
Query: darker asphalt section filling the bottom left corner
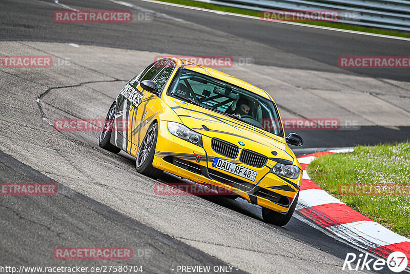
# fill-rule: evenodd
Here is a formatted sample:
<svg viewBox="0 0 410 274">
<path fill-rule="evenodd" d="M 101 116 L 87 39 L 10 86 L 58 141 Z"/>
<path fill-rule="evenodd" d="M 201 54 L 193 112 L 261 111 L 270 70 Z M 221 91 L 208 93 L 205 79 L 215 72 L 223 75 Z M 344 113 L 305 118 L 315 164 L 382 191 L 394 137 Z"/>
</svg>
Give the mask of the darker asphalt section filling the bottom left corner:
<svg viewBox="0 0 410 274">
<path fill-rule="evenodd" d="M 72 246 L 73 242 L 77 246 L 134 246 L 133 257 L 127 260 L 127 265 L 142 266 L 144 272 L 149 273 L 166 273 L 176 264 L 227 266 L 215 257 L 55 182 L 3 152 L 0 152 L 0 170 L 2 182 L 55 183 L 58 189 L 52 198 L 2 198 L 2 227 L 7 227 L 2 232 L 2 238 L 7 238 L 2 241 L 3 266 L 53 266 L 55 259 L 50 250 Z M 99 263 L 121 265 L 120 260 L 99 260 Z M 59 265 L 71 267 L 73 263 L 63 260 Z M 95 263 L 85 260 L 80 265 L 91 268 Z"/>
</svg>

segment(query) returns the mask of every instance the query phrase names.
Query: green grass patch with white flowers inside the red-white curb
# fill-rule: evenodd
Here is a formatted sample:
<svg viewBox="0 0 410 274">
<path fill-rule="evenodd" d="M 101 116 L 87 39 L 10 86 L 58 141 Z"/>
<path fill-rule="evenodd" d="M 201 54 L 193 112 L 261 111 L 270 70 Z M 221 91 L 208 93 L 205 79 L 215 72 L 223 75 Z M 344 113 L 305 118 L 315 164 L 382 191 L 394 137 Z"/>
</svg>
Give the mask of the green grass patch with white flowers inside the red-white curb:
<svg viewBox="0 0 410 274">
<path fill-rule="evenodd" d="M 410 237 L 409 195 L 341 195 L 341 184 L 410 185 L 410 143 L 358 146 L 350 153 L 317 158 L 308 174 L 321 188 L 364 216 Z"/>
</svg>

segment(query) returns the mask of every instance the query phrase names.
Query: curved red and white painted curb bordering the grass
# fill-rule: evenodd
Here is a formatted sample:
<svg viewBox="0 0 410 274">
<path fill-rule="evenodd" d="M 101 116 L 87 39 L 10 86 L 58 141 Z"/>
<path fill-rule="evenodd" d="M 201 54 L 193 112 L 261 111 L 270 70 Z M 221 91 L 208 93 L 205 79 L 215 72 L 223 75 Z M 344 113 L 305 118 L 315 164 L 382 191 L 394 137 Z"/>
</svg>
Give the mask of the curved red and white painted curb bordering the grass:
<svg viewBox="0 0 410 274">
<path fill-rule="evenodd" d="M 387 258 L 394 251 L 403 252 L 409 260 L 407 268 L 410 268 L 409 239 L 348 207 L 316 185 L 306 172 L 306 167 L 318 156 L 352 150 L 329 150 L 298 157 L 303 177 L 296 209 L 324 230 L 381 257 Z"/>
</svg>

